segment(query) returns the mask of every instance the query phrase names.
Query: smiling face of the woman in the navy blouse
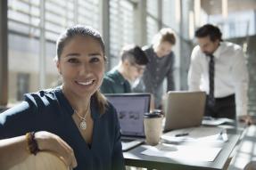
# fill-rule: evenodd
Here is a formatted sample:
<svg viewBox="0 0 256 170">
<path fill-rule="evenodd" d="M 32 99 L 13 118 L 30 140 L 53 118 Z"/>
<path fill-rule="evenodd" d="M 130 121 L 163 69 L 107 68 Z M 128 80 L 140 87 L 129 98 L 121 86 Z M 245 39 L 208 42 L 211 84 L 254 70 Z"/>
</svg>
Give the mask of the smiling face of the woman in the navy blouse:
<svg viewBox="0 0 256 170">
<path fill-rule="evenodd" d="M 93 37 L 74 36 L 64 46 L 57 68 L 64 92 L 81 98 L 91 96 L 103 82 L 103 49 Z"/>
</svg>

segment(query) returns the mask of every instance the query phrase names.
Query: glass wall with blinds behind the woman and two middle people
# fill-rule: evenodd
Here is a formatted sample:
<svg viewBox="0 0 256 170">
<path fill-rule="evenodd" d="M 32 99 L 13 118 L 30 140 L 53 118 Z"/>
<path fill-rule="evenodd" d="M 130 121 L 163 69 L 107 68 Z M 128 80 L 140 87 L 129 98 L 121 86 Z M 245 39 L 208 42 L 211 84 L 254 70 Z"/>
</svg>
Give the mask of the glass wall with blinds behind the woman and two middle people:
<svg viewBox="0 0 256 170">
<path fill-rule="evenodd" d="M 142 2 L 146 5 L 143 7 L 145 15 L 138 12 L 138 6 Z M 170 27 L 177 32 L 179 42 L 180 19 L 177 17 L 180 16 L 177 13 L 180 11 L 177 8 L 181 8 L 181 4 L 177 5 L 178 2 L 108 0 L 110 15 L 101 16 L 101 0 L 8 1 L 8 84 L 9 89 L 12 89 L 9 91 L 9 101 L 20 101 L 22 93 L 35 92 L 42 85 L 48 88 L 58 84 L 54 64 L 55 41 L 64 28 L 73 24 L 87 24 L 103 30 L 107 26 L 102 25 L 101 20 L 108 17 L 111 55 L 108 57 L 112 68 L 120 61 L 119 53 L 123 45 L 139 43 L 136 42 L 139 39 L 136 36 L 145 38 L 142 42 L 150 45 L 160 28 Z M 136 23 L 145 24 L 146 30 L 136 30 Z M 179 43 L 174 48 L 177 58 L 178 47 Z"/>
</svg>

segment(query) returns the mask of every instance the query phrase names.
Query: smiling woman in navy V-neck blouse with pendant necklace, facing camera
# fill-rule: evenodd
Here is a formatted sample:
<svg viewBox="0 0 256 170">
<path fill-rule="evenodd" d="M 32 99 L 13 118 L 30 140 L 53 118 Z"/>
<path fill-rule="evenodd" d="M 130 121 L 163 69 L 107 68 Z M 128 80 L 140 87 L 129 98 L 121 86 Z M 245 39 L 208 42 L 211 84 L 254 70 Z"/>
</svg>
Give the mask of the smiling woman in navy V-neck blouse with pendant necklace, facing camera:
<svg viewBox="0 0 256 170">
<path fill-rule="evenodd" d="M 0 115 L 0 169 L 41 151 L 75 170 L 124 169 L 117 113 L 99 92 L 106 61 L 102 36 L 94 28 L 68 28 L 57 41 L 55 61 L 61 86 L 28 93 Z"/>
</svg>

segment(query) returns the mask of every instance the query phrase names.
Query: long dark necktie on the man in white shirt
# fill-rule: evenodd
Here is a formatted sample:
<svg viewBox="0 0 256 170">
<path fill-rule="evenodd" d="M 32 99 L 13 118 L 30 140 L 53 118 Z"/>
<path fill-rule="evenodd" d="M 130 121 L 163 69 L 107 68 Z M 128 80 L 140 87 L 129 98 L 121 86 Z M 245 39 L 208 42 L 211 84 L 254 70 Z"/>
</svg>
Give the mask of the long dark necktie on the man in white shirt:
<svg viewBox="0 0 256 170">
<path fill-rule="evenodd" d="M 209 106 L 213 107 L 215 104 L 214 99 L 214 56 L 212 54 L 209 55 L 210 61 L 209 61 L 209 98 L 208 98 L 208 104 Z"/>
</svg>

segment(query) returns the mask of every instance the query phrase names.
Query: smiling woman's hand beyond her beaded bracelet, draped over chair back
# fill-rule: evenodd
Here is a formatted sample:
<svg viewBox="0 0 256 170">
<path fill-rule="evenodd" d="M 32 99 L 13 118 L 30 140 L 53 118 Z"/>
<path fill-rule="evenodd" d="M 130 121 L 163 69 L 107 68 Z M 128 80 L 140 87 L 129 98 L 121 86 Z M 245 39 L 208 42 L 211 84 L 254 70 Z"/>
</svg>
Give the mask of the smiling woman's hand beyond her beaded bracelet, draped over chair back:
<svg viewBox="0 0 256 170">
<path fill-rule="evenodd" d="M 39 150 L 51 151 L 65 162 L 67 166 L 76 167 L 77 160 L 74 151 L 56 134 L 40 131 L 35 134 Z"/>
</svg>

